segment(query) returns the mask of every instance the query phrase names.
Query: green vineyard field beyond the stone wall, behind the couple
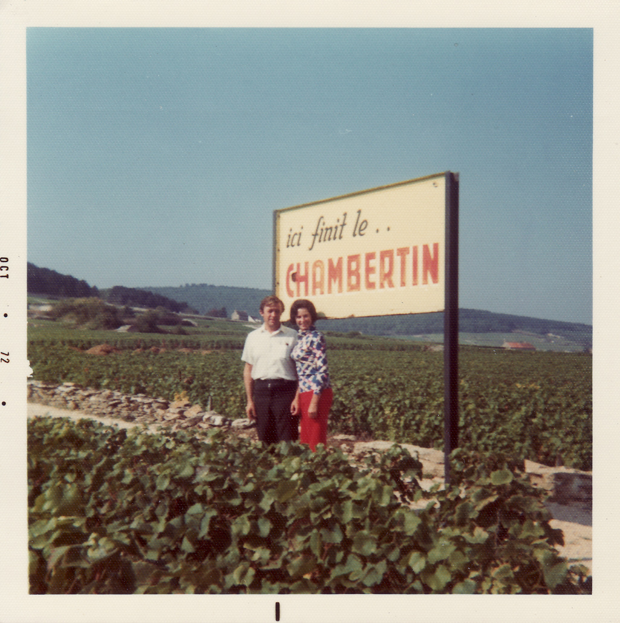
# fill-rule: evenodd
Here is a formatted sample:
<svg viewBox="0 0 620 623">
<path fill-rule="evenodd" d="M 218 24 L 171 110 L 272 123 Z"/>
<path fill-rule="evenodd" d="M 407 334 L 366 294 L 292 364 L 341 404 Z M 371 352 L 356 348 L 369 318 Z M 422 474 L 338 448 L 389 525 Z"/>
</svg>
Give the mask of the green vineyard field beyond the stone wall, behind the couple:
<svg viewBox="0 0 620 623">
<path fill-rule="evenodd" d="M 100 333 L 31 331 L 34 378 L 165 399 L 184 392 L 203 406 L 210 399 L 212 409 L 227 417 L 245 416 L 244 332 L 182 340 Z M 85 353 L 103 341 L 120 352 Z M 335 394 L 331 432 L 442 449 L 442 353 L 386 338 L 328 336 L 328 348 Z M 459 368 L 460 447 L 591 469 L 591 356 L 465 347 Z"/>
</svg>

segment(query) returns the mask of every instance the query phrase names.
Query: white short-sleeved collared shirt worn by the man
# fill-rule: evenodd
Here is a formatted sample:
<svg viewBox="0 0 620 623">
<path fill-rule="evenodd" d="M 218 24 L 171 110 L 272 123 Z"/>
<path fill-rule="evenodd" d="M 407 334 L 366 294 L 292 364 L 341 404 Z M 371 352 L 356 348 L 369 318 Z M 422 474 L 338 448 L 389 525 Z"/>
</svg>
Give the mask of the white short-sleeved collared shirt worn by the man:
<svg viewBox="0 0 620 623">
<path fill-rule="evenodd" d="M 253 379 L 289 379 L 297 381 L 295 362 L 290 351 L 297 342 L 297 331 L 280 325 L 273 333 L 265 325 L 249 333 L 241 354 L 252 366 Z"/>
</svg>

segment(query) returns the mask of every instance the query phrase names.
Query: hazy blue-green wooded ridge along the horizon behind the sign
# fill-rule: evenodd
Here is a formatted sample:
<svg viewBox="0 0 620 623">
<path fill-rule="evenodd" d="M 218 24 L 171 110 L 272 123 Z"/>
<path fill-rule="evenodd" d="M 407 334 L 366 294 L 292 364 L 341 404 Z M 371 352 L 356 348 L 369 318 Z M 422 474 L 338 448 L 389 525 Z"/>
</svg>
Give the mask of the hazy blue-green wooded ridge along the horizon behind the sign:
<svg viewBox="0 0 620 623">
<path fill-rule="evenodd" d="M 242 310 L 257 315 L 262 298 L 270 290 L 258 288 L 234 288 L 206 283 L 192 283 L 174 288 L 145 287 L 177 301 L 186 301 L 191 307 L 206 313 L 214 308 L 226 307 L 230 317 L 233 310 Z M 285 314 L 287 317 L 287 314 Z M 342 320 L 320 320 L 318 326 L 324 330 L 360 331 L 370 335 L 411 336 L 426 333 L 442 333 L 443 312 L 426 314 L 404 314 L 397 316 L 374 316 L 372 318 L 343 318 Z M 562 336 L 583 346 L 592 345 L 592 326 L 581 323 L 542 320 L 528 316 L 485 312 L 483 310 L 461 309 L 459 330 L 463 333 L 532 333 L 535 335 Z"/>
</svg>

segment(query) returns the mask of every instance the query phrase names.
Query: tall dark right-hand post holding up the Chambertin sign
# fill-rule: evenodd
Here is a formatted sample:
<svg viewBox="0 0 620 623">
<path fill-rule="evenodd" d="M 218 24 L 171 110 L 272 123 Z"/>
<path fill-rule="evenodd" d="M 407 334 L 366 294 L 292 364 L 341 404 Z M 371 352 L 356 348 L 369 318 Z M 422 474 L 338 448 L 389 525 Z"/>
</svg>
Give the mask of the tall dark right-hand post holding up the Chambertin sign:
<svg viewBox="0 0 620 623">
<path fill-rule="evenodd" d="M 446 303 L 444 309 L 444 480 L 459 444 L 459 174 L 446 171 Z"/>
</svg>

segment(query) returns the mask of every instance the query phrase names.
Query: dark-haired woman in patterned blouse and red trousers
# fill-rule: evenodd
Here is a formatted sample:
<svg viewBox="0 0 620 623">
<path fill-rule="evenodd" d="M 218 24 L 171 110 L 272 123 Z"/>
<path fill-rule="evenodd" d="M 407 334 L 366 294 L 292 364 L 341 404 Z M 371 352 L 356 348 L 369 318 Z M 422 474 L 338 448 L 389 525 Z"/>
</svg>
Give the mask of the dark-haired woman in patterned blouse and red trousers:
<svg viewBox="0 0 620 623">
<path fill-rule="evenodd" d="M 327 418 L 333 400 L 327 348 L 325 337 L 314 327 L 317 310 L 312 302 L 303 298 L 296 300 L 290 308 L 290 320 L 299 329 L 297 344 L 291 351 L 299 379 L 291 412 L 301 414 L 299 440 L 314 452 L 317 444 L 327 445 Z"/>
</svg>

